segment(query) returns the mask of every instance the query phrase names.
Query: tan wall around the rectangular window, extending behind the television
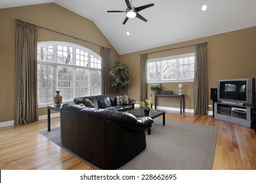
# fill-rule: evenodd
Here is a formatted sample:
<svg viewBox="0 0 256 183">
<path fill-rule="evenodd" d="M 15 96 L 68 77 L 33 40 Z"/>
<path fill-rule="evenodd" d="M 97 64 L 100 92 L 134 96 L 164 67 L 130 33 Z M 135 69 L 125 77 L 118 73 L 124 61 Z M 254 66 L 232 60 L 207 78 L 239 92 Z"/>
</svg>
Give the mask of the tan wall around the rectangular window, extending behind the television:
<svg viewBox="0 0 256 183">
<path fill-rule="evenodd" d="M 155 35 L 157 36 L 157 35 Z M 210 37 L 203 37 L 177 44 L 169 44 L 158 48 L 124 54 L 120 56 L 121 61 L 129 65 L 131 73 L 131 84 L 127 90 L 129 97 L 139 100 L 140 81 L 139 67 L 140 54 L 167 50 L 202 42 L 207 43 L 207 81 L 208 81 L 208 105 L 212 104 L 209 99 L 210 89 L 217 88 L 217 80 L 228 78 L 256 78 L 256 27 L 232 31 Z M 162 58 L 177 54 L 194 52 L 195 46 L 148 54 L 148 59 Z M 185 108 L 194 109 L 194 83 L 181 82 L 185 94 Z M 178 93 L 179 82 L 162 83 L 163 90 L 173 90 Z M 148 84 L 148 95 L 152 93 Z M 179 107 L 179 99 L 160 98 L 158 105 L 163 107 Z M 212 110 L 212 108 L 209 108 Z"/>
</svg>

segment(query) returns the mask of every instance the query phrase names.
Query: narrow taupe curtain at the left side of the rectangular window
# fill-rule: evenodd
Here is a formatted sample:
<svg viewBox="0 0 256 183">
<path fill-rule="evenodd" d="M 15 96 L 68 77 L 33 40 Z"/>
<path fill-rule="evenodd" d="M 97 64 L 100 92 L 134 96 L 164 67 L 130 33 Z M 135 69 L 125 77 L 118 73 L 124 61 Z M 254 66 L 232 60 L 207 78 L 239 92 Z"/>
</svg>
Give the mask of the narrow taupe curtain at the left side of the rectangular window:
<svg viewBox="0 0 256 183">
<path fill-rule="evenodd" d="M 146 100 L 146 59 L 147 54 L 140 55 L 140 101 Z"/>
</svg>

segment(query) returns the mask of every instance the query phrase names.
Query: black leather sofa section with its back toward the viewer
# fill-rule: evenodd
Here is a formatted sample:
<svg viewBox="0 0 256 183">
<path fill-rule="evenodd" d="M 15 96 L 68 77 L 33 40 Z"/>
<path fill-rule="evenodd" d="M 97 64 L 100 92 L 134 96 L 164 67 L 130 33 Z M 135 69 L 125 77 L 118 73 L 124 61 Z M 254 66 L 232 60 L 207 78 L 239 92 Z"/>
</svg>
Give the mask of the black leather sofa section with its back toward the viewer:
<svg viewBox="0 0 256 183">
<path fill-rule="evenodd" d="M 117 169 L 146 148 L 149 117 L 83 105 L 64 104 L 62 145 L 101 169 Z"/>
</svg>

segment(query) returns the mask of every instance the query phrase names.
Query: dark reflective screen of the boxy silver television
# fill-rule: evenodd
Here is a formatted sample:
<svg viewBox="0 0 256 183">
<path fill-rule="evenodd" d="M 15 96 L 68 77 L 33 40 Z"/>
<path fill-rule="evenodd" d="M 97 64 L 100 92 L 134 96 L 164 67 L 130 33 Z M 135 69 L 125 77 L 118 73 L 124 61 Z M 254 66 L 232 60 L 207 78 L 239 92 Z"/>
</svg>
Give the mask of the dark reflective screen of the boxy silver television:
<svg viewBox="0 0 256 183">
<path fill-rule="evenodd" d="M 246 101 L 247 80 L 221 81 L 219 95 L 221 99 Z"/>
</svg>

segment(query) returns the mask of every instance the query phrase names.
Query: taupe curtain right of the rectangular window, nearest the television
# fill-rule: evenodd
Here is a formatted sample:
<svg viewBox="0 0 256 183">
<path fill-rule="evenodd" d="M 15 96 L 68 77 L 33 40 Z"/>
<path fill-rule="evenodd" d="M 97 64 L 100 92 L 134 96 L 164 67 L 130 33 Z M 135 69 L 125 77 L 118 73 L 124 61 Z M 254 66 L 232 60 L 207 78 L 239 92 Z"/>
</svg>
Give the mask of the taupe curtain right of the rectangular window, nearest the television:
<svg viewBox="0 0 256 183">
<path fill-rule="evenodd" d="M 194 114 L 207 114 L 207 43 L 196 45 Z"/>
</svg>

